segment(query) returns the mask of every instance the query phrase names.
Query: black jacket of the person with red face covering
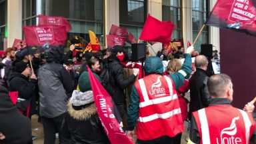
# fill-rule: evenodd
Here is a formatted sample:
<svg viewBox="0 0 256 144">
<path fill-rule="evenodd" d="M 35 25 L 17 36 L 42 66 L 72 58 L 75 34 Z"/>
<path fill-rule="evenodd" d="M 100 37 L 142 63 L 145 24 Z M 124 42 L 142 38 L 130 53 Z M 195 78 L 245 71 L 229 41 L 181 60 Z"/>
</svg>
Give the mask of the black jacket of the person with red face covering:
<svg viewBox="0 0 256 144">
<path fill-rule="evenodd" d="M 107 63 L 111 65 L 111 63 L 116 63 L 113 67 L 109 67 L 109 76 L 111 78 L 111 86 L 113 87 L 115 94 L 111 95 L 113 101 L 119 105 L 125 102 L 125 93 L 124 89 L 129 85 L 133 84 L 136 77 L 135 75 L 131 75 L 129 79 L 125 79 L 125 75 L 123 73 L 124 66 L 121 65 L 119 59 L 117 57 L 109 57 Z"/>
</svg>

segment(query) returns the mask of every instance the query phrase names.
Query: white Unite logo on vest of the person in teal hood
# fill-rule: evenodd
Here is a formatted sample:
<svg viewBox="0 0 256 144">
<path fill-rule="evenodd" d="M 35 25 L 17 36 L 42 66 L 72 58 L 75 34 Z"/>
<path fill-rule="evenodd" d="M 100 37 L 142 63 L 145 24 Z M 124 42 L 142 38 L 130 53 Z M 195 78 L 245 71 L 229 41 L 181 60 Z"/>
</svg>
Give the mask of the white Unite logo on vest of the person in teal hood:
<svg viewBox="0 0 256 144">
<path fill-rule="evenodd" d="M 162 83 L 160 81 L 160 78 L 162 76 L 157 77 L 157 82 L 153 83 L 151 85 L 151 89 L 149 90 L 150 95 L 155 95 L 155 97 L 162 97 L 165 96 L 165 88 L 161 87 Z"/>
</svg>

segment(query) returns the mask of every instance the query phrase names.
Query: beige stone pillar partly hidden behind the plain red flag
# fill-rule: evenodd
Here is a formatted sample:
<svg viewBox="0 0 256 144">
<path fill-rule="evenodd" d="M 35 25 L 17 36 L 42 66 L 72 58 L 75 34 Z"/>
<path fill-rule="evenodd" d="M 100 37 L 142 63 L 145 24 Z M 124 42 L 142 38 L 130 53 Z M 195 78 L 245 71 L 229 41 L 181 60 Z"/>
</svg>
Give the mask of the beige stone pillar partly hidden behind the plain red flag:
<svg viewBox="0 0 256 144">
<path fill-rule="evenodd" d="M 162 1 L 161 0 L 147 0 L 147 13 L 150 13 L 152 17 L 155 17 L 159 21 L 162 21 Z M 155 43 L 152 45 L 155 53 L 161 51 L 162 43 Z M 150 48 L 149 48 L 150 49 Z M 152 49 L 150 49 L 152 55 L 156 55 Z"/>
</svg>

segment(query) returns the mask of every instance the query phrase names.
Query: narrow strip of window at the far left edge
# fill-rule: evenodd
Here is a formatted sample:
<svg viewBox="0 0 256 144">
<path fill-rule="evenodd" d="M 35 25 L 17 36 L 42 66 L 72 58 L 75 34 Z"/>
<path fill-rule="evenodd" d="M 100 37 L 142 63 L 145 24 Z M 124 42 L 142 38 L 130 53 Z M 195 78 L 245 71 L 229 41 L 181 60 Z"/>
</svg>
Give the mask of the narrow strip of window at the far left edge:
<svg viewBox="0 0 256 144">
<path fill-rule="evenodd" d="M 3 50 L 7 38 L 7 0 L 0 0 L 0 50 Z"/>
</svg>

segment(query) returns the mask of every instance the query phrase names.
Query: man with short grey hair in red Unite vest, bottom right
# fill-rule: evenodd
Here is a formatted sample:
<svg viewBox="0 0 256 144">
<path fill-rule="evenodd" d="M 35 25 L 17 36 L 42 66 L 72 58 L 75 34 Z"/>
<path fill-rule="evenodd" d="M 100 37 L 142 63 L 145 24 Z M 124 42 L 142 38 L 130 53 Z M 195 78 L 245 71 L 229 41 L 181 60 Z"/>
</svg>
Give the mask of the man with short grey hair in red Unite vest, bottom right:
<svg viewBox="0 0 256 144">
<path fill-rule="evenodd" d="M 255 122 L 251 113 L 231 105 L 233 84 L 225 74 L 207 81 L 209 107 L 192 113 L 188 144 L 249 144 Z"/>
</svg>

